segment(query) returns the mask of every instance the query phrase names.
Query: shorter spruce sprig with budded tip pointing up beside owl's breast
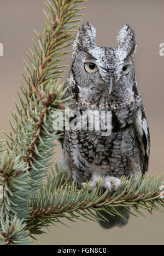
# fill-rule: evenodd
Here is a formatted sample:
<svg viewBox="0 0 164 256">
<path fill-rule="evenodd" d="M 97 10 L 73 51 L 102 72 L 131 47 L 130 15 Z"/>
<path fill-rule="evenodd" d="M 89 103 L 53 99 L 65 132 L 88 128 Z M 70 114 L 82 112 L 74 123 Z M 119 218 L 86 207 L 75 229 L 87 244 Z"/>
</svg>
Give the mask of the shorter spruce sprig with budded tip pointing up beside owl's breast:
<svg viewBox="0 0 164 256">
<path fill-rule="evenodd" d="M 28 101 L 26 106 L 27 115 L 22 115 L 19 110 L 20 117 L 18 121 L 17 115 L 13 115 L 17 122 L 17 127 L 11 123 L 11 127 L 15 133 L 15 138 L 9 137 L 12 141 L 10 149 L 15 152 L 16 156 L 20 156 L 24 160 L 28 173 L 31 176 L 31 190 L 36 193 L 43 185 L 43 179 L 46 171 L 51 166 L 51 157 L 54 155 L 56 139 L 60 138 L 62 133 L 52 128 L 54 122 L 54 111 L 61 104 L 61 98 L 65 90 L 61 92 L 63 84 L 58 82 L 50 82 L 43 89 L 38 87 L 38 91 L 33 95 L 33 99 Z M 63 102 L 63 100 L 62 100 Z"/>
</svg>

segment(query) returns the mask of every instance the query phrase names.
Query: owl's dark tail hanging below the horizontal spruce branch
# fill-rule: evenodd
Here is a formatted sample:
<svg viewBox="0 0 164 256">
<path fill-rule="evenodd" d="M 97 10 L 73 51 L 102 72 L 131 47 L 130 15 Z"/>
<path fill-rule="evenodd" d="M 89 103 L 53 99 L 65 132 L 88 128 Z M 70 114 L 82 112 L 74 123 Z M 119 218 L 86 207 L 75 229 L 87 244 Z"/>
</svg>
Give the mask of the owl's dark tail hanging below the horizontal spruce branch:
<svg viewBox="0 0 164 256">
<path fill-rule="evenodd" d="M 126 208 L 128 210 L 130 210 L 130 207 L 122 207 L 122 206 L 119 206 L 117 209 L 118 211 L 121 213 L 121 215 L 124 216 L 124 218 L 122 218 L 121 216 L 119 215 L 116 215 L 116 216 L 113 216 L 113 215 L 110 215 L 109 213 L 101 210 L 99 211 L 99 213 L 101 215 L 103 215 L 103 217 L 105 217 L 107 221 L 105 220 L 98 220 L 98 223 L 104 227 L 104 229 L 112 229 L 112 227 L 115 227 L 115 226 L 118 226 L 118 227 L 124 227 L 127 223 L 128 223 L 128 220 L 130 218 L 130 213 L 126 210 Z M 99 215 L 97 213 L 97 216 L 98 218 L 101 218 L 101 215 Z"/>
</svg>

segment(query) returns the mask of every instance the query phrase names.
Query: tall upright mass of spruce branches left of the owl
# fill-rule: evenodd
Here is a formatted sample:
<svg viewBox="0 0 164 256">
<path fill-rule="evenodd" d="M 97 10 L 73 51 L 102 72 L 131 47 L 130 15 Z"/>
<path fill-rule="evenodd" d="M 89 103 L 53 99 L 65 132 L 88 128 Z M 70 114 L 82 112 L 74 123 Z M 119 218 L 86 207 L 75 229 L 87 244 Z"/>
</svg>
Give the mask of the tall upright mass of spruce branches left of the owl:
<svg viewBox="0 0 164 256">
<path fill-rule="evenodd" d="M 69 53 L 63 52 L 63 49 L 71 45 L 70 41 L 75 36 L 73 28 L 79 25 L 77 22 L 80 19 L 74 18 L 80 16 L 78 12 L 83 8 L 75 7 L 84 1 L 52 0 L 45 3 L 53 20 L 44 11 L 44 39 L 35 31 L 40 49 L 33 41 L 35 53 L 31 49 L 31 55 L 27 53 L 31 66 L 25 61 L 25 72 L 22 75 L 28 90 L 20 79 L 24 98 L 18 93 L 21 107 L 15 103 L 17 112 L 11 112 L 15 120 L 15 123 L 10 121 L 13 133 L 5 133 L 9 155 L 4 154 L 3 143 L 0 142 L 1 230 L 5 225 L 7 230 L 13 218 L 27 221 L 39 189 L 44 185 L 46 172 L 52 165 L 50 160 L 58 144 L 55 141 L 62 136 L 62 133 L 52 128 L 53 113 L 56 109 L 65 108 L 65 100 L 61 100 L 65 90 L 62 92 L 63 84 L 58 81 L 63 72 L 61 69 L 65 66 L 59 63 L 63 60 L 62 56 Z M 2 232 L 7 238 L 8 232 Z"/>
</svg>

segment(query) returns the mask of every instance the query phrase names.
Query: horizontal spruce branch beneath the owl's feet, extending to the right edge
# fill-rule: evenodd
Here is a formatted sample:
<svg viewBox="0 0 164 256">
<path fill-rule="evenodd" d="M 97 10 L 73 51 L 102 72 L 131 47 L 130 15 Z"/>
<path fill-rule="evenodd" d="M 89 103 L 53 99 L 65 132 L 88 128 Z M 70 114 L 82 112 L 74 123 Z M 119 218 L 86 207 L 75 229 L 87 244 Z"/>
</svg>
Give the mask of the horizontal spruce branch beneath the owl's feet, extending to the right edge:
<svg viewBox="0 0 164 256">
<path fill-rule="evenodd" d="M 111 215 L 120 215 L 118 206 L 124 206 L 127 211 L 131 207 L 130 213 L 133 215 L 144 215 L 142 209 L 147 209 L 149 213 L 153 210 L 160 210 L 164 206 L 164 196 L 160 187 L 163 184 L 163 175 L 142 175 L 133 180 L 127 177 L 121 178 L 121 185 L 117 191 L 102 190 L 102 180 L 99 181 L 98 187 L 89 191 L 89 184 L 84 189 L 78 190 L 77 185 L 71 182 L 66 173 L 56 165 L 57 174 L 49 175 L 48 183 L 40 189 L 39 197 L 35 201 L 30 218 L 27 223 L 27 229 L 31 234 L 41 234 L 40 230 L 49 223 L 58 223 L 61 218 L 67 218 L 75 221 L 80 217 L 89 220 L 104 219 L 99 213 L 103 210 Z M 130 187 L 128 188 L 128 185 Z M 95 214 L 95 211 L 98 215 Z M 107 220 L 106 220 L 107 221 Z"/>
</svg>

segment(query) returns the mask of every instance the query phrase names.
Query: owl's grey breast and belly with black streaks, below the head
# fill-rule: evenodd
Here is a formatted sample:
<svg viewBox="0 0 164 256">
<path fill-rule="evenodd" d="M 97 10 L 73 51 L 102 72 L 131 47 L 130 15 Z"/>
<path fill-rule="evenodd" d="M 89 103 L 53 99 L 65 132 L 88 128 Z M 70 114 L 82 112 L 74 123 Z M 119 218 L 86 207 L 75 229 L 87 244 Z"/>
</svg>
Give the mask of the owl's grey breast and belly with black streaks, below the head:
<svg viewBox="0 0 164 256">
<path fill-rule="evenodd" d="M 65 132 L 63 167 L 79 184 L 89 180 L 94 172 L 116 178 L 129 175 L 130 162 L 138 157 L 133 126 L 138 106 L 128 104 L 106 111 L 83 110 L 80 109 L 76 121 L 71 117 L 73 126 Z M 95 119 L 88 113 L 94 113 Z"/>
</svg>

